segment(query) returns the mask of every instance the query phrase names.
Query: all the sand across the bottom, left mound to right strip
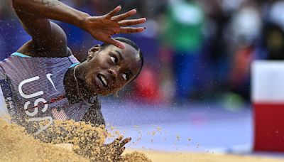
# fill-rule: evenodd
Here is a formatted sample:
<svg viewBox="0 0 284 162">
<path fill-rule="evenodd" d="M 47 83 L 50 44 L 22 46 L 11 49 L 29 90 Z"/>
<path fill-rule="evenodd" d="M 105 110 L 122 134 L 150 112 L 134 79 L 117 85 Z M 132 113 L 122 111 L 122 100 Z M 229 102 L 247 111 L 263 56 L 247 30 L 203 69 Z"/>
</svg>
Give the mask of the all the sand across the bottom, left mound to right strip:
<svg viewBox="0 0 284 162">
<path fill-rule="evenodd" d="M 104 128 L 94 128 L 84 122 L 57 121 L 48 131 L 52 134 L 51 136 L 40 136 L 40 138 L 34 139 L 33 136 L 26 134 L 21 126 L 8 124 L 0 119 L 0 161 L 284 161 L 280 158 L 258 156 L 129 149 L 124 151 L 123 156 L 113 158 L 110 155 L 114 150 L 106 151 L 102 147 L 106 139 Z"/>
</svg>

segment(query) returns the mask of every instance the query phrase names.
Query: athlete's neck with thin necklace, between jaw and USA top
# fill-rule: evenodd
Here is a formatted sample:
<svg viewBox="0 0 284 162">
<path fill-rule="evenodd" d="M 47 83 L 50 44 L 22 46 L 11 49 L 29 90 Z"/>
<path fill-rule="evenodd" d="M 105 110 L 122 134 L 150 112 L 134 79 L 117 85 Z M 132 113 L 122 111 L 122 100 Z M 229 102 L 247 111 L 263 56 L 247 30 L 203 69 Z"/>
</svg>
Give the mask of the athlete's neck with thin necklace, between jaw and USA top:
<svg viewBox="0 0 284 162">
<path fill-rule="evenodd" d="M 73 68 L 70 68 L 65 73 L 64 77 L 64 87 L 66 92 L 66 97 L 71 103 L 88 101 L 91 93 L 88 92 L 87 88 L 84 86 L 84 83 L 79 78 L 84 77 L 83 64 L 77 65 Z M 82 75 L 82 77 L 80 76 Z"/>
</svg>

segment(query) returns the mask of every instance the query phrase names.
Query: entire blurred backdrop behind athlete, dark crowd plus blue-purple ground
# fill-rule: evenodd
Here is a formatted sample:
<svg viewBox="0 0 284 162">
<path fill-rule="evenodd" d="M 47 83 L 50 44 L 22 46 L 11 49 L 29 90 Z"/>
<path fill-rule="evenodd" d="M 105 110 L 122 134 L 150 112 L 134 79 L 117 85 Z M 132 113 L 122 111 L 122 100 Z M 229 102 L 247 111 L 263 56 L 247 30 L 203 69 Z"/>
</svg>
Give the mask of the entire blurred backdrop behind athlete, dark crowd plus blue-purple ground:
<svg viewBox="0 0 284 162">
<path fill-rule="evenodd" d="M 31 38 L 23 31 L 11 1 L 0 1 L 0 59 L 4 60 Z M 251 149 L 251 63 L 283 60 L 283 0 L 62 2 L 93 16 L 121 4 L 122 12 L 136 8 L 135 17 L 148 20 L 143 24 L 145 32 L 119 35 L 141 48 L 145 59 L 141 75 L 119 97 L 103 99 L 106 121 L 141 141 L 133 148 Z M 80 28 L 57 23 L 79 60 L 99 43 Z M 136 125 L 143 130 L 137 131 Z M 157 126 L 163 134 L 153 137 Z"/>
</svg>

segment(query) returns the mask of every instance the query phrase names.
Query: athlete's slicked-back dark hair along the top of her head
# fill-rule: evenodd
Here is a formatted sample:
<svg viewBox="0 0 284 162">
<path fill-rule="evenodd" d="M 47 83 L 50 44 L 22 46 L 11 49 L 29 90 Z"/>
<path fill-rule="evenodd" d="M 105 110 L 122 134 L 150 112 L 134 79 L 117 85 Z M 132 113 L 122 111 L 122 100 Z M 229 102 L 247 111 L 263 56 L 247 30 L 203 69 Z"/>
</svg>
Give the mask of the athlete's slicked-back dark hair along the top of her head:
<svg viewBox="0 0 284 162">
<path fill-rule="evenodd" d="M 136 43 L 134 43 L 133 41 L 131 41 L 131 40 L 128 39 L 128 38 L 115 37 L 114 39 L 117 40 L 117 41 L 121 41 L 121 42 L 123 42 L 123 43 L 126 43 L 126 44 L 128 44 L 128 45 L 131 45 L 131 47 L 133 47 L 134 49 L 136 49 L 136 50 L 139 52 L 138 55 L 139 55 L 139 58 L 140 58 L 140 60 L 141 60 L 141 69 L 139 70 L 138 74 L 132 79 L 132 80 L 135 80 L 136 77 L 138 77 L 138 75 L 140 74 L 140 72 L 141 72 L 141 70 L 142 70 L 142 67 L 143 67 L 143 63 L 144 63 L 144 58 L 143 58 L 143 54 L 142 54 L 142 52 L 141 52 L 141 49 L 138 47 L 138 45 L 136 45 Z M 103 44 L 101 45 L 101 49 L 103 50 L 104 48 L 107 47 L 107 45 L 110 45 L 110 44 L 109 44 L 109 43 L 103 43 Z"/>
</svg>

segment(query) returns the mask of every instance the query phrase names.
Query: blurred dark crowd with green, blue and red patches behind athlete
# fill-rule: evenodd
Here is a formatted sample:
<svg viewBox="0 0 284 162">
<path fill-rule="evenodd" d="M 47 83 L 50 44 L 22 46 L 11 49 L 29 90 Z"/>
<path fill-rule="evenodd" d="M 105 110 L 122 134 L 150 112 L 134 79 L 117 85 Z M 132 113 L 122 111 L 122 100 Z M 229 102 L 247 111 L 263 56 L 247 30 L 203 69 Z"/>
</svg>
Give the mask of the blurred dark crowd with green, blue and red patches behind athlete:
<svg viewBox="0 0 284 162">
<path fill-rule="evenodd" d="M 253 60 L 284 58 L 283 0 L 63 0 L 99 16 L 121 4 L 146 17 L 146 31 L 130 35 L 141 47 L 146 65 L 127 90 L 145 102 L 182 103 L 201 99 L 250 99 Z M 67 23 L 68 45 L 79 60 L 95 41 Z M 31 39 L 16 18 L 10 0 L 0 1 L 0 59 Z"/>
</svg>

